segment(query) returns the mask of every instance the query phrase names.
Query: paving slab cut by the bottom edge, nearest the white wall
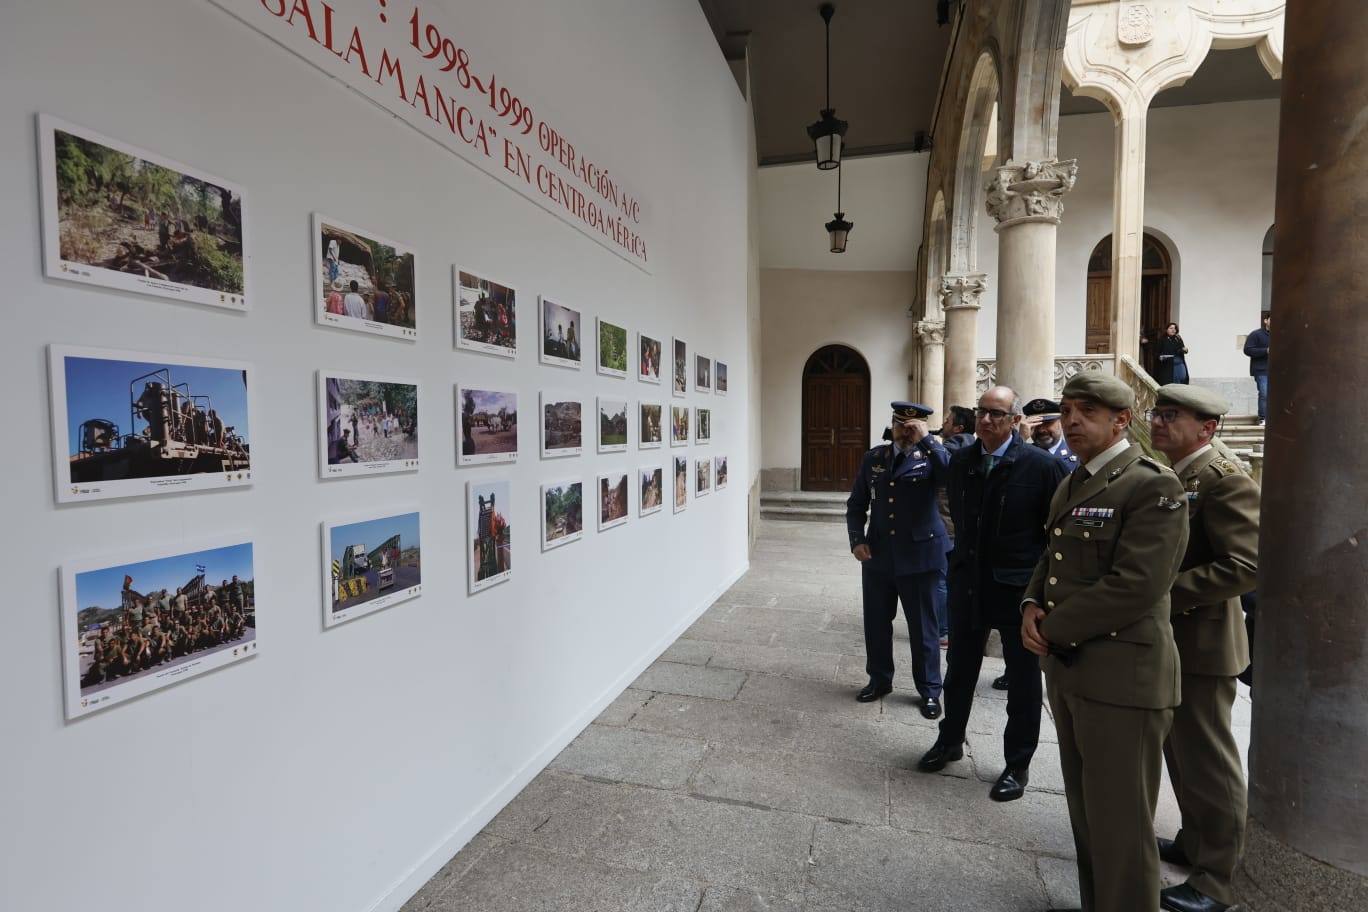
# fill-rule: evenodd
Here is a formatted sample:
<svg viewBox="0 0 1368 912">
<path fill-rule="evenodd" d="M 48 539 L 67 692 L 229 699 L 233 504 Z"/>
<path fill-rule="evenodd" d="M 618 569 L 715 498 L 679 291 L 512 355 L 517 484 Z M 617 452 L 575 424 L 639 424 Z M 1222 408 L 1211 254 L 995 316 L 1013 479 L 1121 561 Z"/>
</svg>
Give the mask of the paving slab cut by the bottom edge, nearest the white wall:
<svg viewBox="0 0 1368 912">
<path fill-rule="evenodd" d="M 432 912 L 695 912 L 703 889 L 528 845 L 488 852 Z"/>
</svg>

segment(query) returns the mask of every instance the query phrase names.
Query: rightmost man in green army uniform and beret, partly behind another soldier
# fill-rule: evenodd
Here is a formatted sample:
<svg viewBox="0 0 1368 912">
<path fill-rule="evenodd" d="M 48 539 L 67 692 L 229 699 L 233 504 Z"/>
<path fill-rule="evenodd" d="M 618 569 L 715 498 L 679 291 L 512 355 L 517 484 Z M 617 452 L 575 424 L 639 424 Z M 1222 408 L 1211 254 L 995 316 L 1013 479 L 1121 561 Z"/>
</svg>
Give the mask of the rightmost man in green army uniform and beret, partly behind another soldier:
<svg viewBox="0 0 1368 912">
<path fill-rule="evenodd" d="M 1183 823 L 1174 840 L 1159 840 L 1159 856 L 1192 875 L 1160 893 L 1171 912 L 1227 909 L 1245 841 L 1245 775 L 1230 708 L 1235 675 L 1249 665 L 1239 596 L 1259 573 L 1259 485 L 1212 448 L 1228 410 L 1218 392 L 1172 383 L 1149 413 L 1155 448 L 1187 492 L 1187 554 L 1170 593 L 1183 701 L 1164 741 Z"/>
</svg>

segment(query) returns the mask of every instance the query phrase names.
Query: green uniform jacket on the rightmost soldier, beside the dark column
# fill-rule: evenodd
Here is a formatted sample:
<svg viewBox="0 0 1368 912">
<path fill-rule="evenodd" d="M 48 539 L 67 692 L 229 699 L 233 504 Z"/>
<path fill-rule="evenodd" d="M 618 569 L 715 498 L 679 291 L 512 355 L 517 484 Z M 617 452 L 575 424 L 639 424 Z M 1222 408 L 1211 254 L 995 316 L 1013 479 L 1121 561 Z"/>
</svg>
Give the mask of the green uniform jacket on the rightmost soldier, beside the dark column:
<svg viewBox="0 0 1368 912">
<path fill-rule="evenodd" d="M 1187 554 L 1174 581 L 1183 674 L 1234 677 L 1249 666 L 1239 596 L 1259 574 L 1259 484 L 1215 450 L 1183 468 Z"/>
</svg>

